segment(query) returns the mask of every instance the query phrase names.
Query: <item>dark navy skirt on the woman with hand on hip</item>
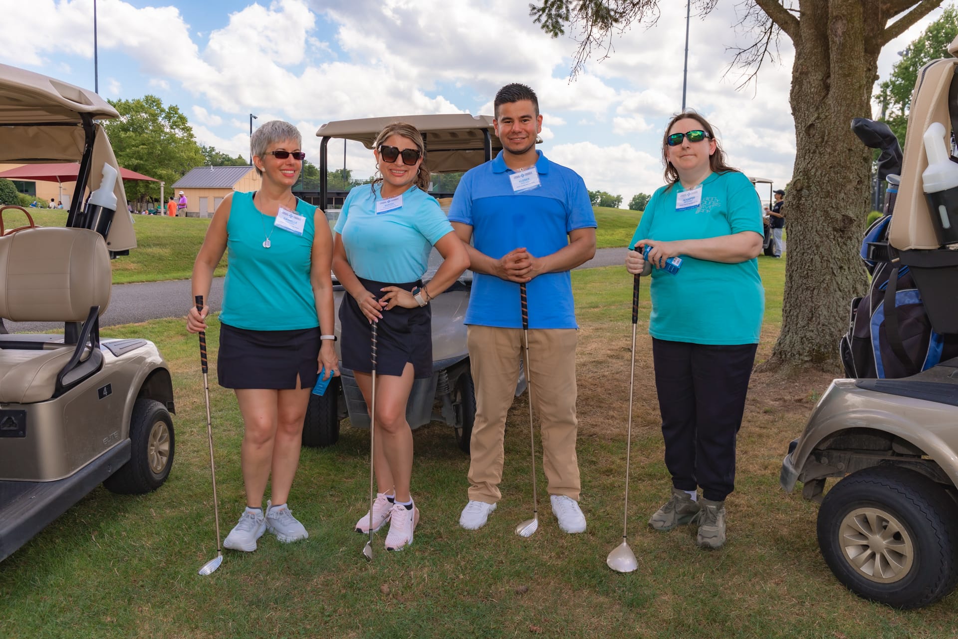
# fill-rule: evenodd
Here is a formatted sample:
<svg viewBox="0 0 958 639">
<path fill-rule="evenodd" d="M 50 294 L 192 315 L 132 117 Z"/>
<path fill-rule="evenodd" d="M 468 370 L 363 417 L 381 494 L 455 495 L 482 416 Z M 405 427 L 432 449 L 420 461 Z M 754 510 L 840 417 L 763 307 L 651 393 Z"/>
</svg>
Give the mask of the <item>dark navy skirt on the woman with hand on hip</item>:
<svg viewBox="0 0 958 639">
<path fill-rule="evenodd" d="M 380 290 L 383 286 L 399 286 L 405 290 L 422 286 L 422 282 L 390 284 L 363 278 L 359 278 L 359 282 L 377 298 L 385 294 Z M 377 324 L 376 375 L 399 377 L 406 362 L 411 362 L 414 377 L 432 377 L 432 309 L 429 305 L 383 310 Z M 339 326 L 343 366 L 359 373 L 372 373 L 372 325 L 349 293 L 339 305 Z"/>
</svg>

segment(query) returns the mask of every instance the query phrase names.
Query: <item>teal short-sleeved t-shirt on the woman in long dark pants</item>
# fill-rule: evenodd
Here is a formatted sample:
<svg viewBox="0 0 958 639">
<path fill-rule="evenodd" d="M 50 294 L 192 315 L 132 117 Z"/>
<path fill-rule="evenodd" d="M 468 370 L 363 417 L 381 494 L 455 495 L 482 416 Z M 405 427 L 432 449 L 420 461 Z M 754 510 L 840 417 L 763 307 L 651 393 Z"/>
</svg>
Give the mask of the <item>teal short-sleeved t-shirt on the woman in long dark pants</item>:
<svg viewBox="0 0 958 639">
<path fill-rule="evenodd" d="M 763 235 L 762 204 L 739 171 L 712 173 L 702 182 L 697 208 L 675 210 L 681 183 L 661 187 L 649 200 L 635 235 L 641 240 L 703 240 L 754 231 Z M 765 292 L 758 260 L 736 264 L 682 257 L 674 275 L 651 273 L 652 337 L 693 344 L 757 344 Z"/>
</svg>

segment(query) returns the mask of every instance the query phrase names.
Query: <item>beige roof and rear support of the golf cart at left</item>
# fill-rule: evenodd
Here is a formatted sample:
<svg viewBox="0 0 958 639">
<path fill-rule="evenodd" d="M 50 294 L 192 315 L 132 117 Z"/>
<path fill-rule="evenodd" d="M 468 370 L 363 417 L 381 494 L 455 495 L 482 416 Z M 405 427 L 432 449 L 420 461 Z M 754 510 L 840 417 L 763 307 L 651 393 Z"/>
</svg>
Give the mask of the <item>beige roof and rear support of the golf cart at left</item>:
<svg viewBox="0 0 958 639">
<path fill-rule="evenodd" d="M 80 210 L 85 191 L 100 187 L 104 164 L 120 172 L 106 131 L 95 122 L 119 117 L 115 108 L 89 89 L 0 64 L 0 162 L 80 162 L 85 171 L 71 198 L 71 219 Z M 84 157 L 88 143 L 90 152 Z M 113 194 L 121 211 L 113 218 L 106 244 L 111 251 L 125 251 L 136 246 L 136 236 L 132 220 L 125 215 L 122 179 L 116 181 Z"/>
</svg>

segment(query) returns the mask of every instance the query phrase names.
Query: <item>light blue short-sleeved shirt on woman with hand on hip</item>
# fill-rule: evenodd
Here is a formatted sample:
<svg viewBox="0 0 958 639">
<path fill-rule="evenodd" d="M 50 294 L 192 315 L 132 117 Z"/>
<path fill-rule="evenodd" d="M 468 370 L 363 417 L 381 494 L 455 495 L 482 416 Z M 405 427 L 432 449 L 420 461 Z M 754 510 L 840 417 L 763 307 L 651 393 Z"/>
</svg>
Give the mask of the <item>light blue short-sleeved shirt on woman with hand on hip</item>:
<svg viewBox="0 0 958 639">
<path fill-rule="evenodd" d="M 376 213 L 382 200 L 367 184 L 354 187 L 346 196 L 343 211 L 333 229 L 343 237 L 346 258 L 354 273 L 375 282 L 405 284 L 425 273 L 432 245 L 452 225 L 436 198 L 413 187 L 402 194 L 402 206 Z"/>
</svg>

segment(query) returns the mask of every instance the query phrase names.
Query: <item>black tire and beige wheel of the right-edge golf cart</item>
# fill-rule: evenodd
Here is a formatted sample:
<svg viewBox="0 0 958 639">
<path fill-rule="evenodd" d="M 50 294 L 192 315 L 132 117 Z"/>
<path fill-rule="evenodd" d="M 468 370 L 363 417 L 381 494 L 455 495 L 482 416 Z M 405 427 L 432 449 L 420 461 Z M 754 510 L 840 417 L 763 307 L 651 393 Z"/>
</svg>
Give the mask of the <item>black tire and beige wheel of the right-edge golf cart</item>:
<svg viewBox="0 0 958 639">
<path fill-rule="evenodd" d="M 818 545 L 838 581 L 881 604 L 932 604 L 958 578 L 958 512 L 944 488 L 906 468 L 839 481 L 818 512 Z"/>
</svg>

